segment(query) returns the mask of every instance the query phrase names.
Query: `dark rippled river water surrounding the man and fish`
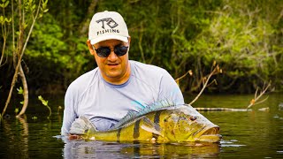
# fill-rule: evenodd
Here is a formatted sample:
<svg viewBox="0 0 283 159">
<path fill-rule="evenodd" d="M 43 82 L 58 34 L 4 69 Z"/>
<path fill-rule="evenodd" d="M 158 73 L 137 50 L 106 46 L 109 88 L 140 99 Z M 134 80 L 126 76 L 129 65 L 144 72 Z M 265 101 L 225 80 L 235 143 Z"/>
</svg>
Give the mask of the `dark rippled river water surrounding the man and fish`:
<svg viewBox="0 0 283 159">
<path fill-rule="evenodd" d="M 202 95 L 194 107 L 246 108 L 254 95 Z M 47 98 L 47 97 L 46 97 Z M 194 98 L 185 95 L 186 102 Z M 264 98 L 263 98 L 264 99 Z M 36 99 L 27 115 L 15 118 L 11 106 L 0 126 L 0 158 L 283 158 L 283 95 L 269 95 L 252 111 L 201 111 L 220 126 L 217 144 L 63 141 L 59 138 L 63 96 L 50 97 L 52 116 Z M 269 107 L 269 110 L 258 110 Z M 57 113 L 59 112 L 59 113 Z"/>
</svg>

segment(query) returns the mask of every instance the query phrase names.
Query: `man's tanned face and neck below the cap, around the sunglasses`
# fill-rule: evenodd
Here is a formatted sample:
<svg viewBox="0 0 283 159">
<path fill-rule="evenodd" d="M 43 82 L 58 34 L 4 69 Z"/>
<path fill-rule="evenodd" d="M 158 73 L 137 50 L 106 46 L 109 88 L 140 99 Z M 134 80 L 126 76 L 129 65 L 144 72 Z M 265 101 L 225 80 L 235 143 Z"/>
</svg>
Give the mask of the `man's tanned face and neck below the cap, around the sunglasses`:
<svg viewBox="0 0 283 159">
<path fill-rule="evenodd" d="M 103 42 L 98 42 L 91 46 L 88 41 L 88 49 L 90 53 L 96 58 L 96 64 L 98 65 L 100 71 L 102 72 L 103 79 L 112 84 L 122 84 L 130 76 L 130 65 L 128 64 L 128 49 L 129 42 L 122 42 L 119 40 L 107 40 Z M 121 46 L 127 46 L 127 52 L 123 56 L 117 56 L 114 49 Z M 108 57 L 99 57 L 97 55 L 97 49 L 109 48 L 111 53 Z"/>
</svg>

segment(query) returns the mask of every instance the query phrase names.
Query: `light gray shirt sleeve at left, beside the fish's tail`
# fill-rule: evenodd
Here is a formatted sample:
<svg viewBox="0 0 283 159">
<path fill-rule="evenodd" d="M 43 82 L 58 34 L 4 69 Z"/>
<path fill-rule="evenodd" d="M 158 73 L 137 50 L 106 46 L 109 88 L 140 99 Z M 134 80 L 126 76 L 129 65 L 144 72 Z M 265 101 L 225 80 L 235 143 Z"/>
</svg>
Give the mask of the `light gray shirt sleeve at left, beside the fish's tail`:
<svg viewBox="0 0 283 159">
<path fill-rule="evenodd" d="M 64 117 L 63 117 L 63 125 L 61 127 L 61 135 L 69 134 L 69 130 L 75 118 L 77 117 L 75 113 L 75 105 L 76 105 L 76 95 L 75 91 L 73 91 L 73 87 L 69 87 L 65 94 L 65 109 L 64 109 Z"/>
</svg>

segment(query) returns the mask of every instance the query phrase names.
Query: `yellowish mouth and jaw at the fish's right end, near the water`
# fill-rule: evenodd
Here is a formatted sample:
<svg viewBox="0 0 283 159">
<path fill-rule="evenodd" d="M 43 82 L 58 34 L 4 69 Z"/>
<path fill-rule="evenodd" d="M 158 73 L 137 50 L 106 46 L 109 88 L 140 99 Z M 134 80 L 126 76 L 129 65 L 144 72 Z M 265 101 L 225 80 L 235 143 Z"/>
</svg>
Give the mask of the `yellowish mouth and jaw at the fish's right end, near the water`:
<svg viewBox="0 0 283 159">
<path fill-rule="evenodd" d="M 203 131 L 201 135 L 195 140 L 195 141 L 201 141 L 201 142 L 219 142 L 222 138 L 219 132 L 218 126 L 213 126 L 210 128 L 203 128 Z"/>
</svg>

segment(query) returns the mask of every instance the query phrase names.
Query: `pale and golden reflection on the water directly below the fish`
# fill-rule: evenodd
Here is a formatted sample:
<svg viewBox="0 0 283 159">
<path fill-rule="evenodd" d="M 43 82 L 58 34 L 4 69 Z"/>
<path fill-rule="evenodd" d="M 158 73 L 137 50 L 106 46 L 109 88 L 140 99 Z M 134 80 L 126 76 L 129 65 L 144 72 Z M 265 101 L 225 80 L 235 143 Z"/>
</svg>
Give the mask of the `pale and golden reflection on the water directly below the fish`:
<svg viewBox="0 0 283 159">
<path fill-rule="evenodd" d="M 218 143 L 117 143 L 103 141 L 68 140 L 65 142 L 65 158 L 134 158 L 134 157 L 217 157 Z"/>
</svg>

